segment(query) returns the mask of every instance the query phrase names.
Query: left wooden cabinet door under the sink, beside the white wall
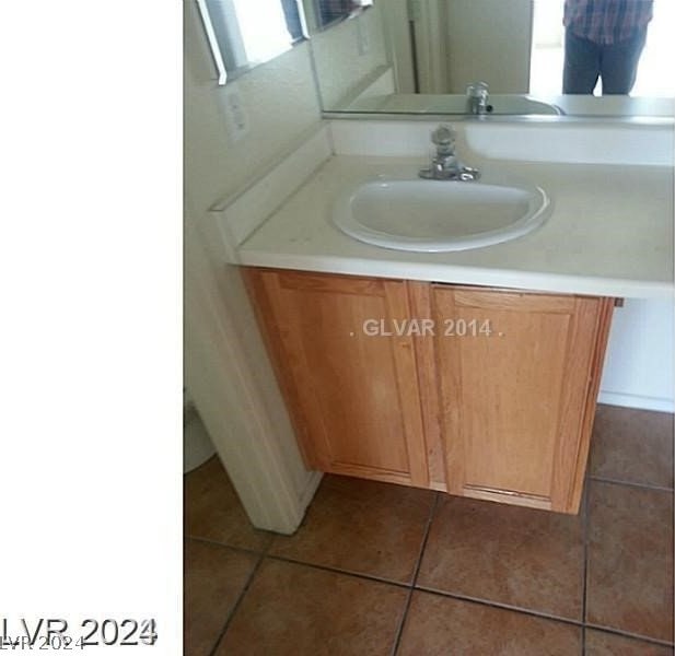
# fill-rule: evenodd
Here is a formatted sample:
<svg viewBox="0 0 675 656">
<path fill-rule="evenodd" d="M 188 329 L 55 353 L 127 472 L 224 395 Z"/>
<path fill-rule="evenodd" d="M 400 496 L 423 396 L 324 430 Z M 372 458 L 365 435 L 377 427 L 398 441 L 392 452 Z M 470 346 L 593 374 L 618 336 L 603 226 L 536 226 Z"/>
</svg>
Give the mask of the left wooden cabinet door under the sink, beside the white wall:
<svg viewBox="0 0 675 656">
<path fill-rule="evenodd" d="M 427 487 L 406 282 L 247 269 L 249 290 L 309 467 Z"/>
</svg>

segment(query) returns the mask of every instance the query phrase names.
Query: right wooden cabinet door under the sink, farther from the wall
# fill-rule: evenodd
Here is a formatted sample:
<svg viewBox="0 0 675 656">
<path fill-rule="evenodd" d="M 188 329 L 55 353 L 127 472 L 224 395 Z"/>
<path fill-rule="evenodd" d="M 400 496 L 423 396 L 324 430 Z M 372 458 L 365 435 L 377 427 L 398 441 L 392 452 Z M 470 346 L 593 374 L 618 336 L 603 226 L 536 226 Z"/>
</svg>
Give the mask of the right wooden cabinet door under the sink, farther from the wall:
<svg viewBox="0 0 675 656">
<path fill-rule="evenodd" d="M 447 491 L 577 513 L 613 300 L 433 285 L 431 304 L 454 321 L 434 340 Z"/>
</svg>

